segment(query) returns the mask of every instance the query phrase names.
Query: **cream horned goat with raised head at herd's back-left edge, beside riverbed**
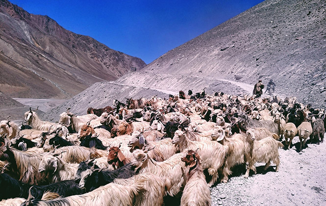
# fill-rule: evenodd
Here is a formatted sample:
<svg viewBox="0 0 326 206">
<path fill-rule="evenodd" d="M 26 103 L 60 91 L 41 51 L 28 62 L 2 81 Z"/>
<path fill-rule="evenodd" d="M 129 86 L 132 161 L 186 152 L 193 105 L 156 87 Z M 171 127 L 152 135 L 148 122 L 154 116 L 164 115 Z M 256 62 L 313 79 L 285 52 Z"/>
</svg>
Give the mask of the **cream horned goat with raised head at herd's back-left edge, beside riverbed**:
<svg viewBox="0 0 326 206">
<path fill-rule="evenodd" d="M 29 111 L 25 112 L 25 123 L 27 123 L 27 125 L 31 126 L 33 129 L 46 131 L 61 127 L 61 124 L 41 121 L 35 112 L 36 110 L 32 111 L 31 107 L 29 107 Z"/>
</svg>

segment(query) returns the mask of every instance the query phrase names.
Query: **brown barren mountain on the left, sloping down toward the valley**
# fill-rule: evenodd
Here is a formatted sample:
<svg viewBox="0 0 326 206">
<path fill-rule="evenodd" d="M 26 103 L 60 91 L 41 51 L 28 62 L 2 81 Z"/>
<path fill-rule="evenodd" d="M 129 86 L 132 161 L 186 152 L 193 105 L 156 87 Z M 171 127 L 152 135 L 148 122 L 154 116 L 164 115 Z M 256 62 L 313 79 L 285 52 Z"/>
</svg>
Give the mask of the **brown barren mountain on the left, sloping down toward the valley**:
<svg viewBox="0 0 326 206">
<path fill-rule="evenodd" d="M 68 31 L 48 16 L 0 0 L 0 90 L 10 97 L 72 97 L 144 66 L 141 59 Z"/>
</svg>

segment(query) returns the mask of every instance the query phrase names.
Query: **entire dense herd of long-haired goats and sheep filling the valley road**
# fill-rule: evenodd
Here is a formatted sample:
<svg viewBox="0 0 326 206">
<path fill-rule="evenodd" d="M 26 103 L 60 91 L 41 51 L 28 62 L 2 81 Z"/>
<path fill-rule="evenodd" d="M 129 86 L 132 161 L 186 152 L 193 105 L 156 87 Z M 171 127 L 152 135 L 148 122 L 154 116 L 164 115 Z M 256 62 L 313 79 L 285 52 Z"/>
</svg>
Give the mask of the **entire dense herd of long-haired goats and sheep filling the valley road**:
<svg viewBox="0 0 326 206">
<path fill-rule="evenodd" d="M 278 149 L 299 136 L 323 142 L 326 111 L 296 98 L 222 92 L 127 99 L 70 111 L 58 123 L 32 110 L 0 122 L 0 206 L 210 206 L 209 187 L 236 165 L 279 167 Z M 281 141 L 284 140 L 282 143 Z"/>
</svg>

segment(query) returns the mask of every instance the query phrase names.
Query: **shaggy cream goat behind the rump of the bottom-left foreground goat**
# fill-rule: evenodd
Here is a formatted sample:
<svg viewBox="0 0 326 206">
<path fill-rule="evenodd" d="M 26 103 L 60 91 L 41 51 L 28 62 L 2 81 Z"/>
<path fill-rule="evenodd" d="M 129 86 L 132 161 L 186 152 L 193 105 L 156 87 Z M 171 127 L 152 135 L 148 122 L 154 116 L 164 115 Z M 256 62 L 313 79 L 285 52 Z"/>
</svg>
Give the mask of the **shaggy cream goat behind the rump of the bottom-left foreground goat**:
<svg viewBox="0 0 326 206">
<path fill-rule="evenodd" d="M 135 175 L 129 179 L 115 179 L 116 184 L 132 184 L 136 177 L 145 179 L 144 189 L 136 195 L 133 206 L 162 206 L 163 197 L 166 195 L 165 180 L 150 173 Z"/>
</svg>

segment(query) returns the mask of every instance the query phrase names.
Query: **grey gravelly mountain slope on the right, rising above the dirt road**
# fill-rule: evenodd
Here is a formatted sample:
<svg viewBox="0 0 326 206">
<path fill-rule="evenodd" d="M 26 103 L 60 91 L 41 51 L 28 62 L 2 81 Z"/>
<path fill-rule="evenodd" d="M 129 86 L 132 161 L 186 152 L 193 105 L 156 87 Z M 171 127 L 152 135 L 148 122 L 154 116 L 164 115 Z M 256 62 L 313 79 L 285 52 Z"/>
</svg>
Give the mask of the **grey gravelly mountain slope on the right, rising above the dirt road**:
<svg viewBox="0 0 326 206">
<path fill-rule="evenodd" d="M 272 78 L 278 94 L 325 106 L 325 25 L 324 0 L 265 0 L 117 82 L 178 91 Z"/>
</svg>

